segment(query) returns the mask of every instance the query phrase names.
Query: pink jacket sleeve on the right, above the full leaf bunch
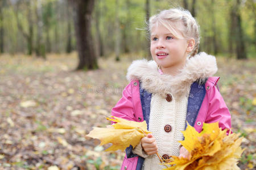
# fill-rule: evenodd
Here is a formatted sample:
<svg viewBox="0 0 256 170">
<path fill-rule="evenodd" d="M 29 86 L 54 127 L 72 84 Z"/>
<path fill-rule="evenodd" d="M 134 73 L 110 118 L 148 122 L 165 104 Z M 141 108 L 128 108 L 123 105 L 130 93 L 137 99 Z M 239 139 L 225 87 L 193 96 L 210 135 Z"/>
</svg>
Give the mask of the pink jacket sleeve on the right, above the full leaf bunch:
<svg viewBox="0 0 256 170">
<path fill-rule="evenodd" d="M 219 127 L 224 129 L 231 128 L 231 116 L 229 113 L 229 109 L 225 104 L 223 97 L 221 96 L 220 92 L 218 91 L 218 87 L 213 86 L 212 91 L 210 92 L 209 96 L 209 108 L 207 117 L 205 119 L 205 123 L 212 123 L 217 122 Z M 229 134 L 229 130 L 227 134 Z"/>
</svg>

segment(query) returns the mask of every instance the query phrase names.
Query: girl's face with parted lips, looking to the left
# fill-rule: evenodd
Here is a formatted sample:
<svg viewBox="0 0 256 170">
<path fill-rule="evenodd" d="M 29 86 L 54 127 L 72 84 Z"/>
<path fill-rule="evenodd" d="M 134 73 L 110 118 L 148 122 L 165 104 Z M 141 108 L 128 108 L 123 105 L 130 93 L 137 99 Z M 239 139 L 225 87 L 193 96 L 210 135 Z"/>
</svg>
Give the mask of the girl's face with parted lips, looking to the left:
<svg viewBox="0 0 256 170">
<path fill-rule="evenodd" d="M 152 28 L 150 52 L 163 72 L 184 66 L 188 55 L 187 47 L 187 40 L 177 39 L 162 24 Z"/>
</svg>

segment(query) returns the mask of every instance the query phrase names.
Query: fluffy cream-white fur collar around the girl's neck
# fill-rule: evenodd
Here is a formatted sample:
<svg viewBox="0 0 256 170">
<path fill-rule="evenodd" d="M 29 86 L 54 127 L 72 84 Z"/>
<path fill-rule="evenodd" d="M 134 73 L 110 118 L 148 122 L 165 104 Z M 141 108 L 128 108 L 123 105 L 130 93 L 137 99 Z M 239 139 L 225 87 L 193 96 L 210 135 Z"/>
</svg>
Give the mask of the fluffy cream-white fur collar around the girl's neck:
<svg viewBox="0 0 256 170">
<path fill-rule="evenodd" d="M 187 59 L 185 66 L 176 76 L 160 75 L 155 61 L 142 59 L 131 63 L 126 78 L 129 81 L 140 80 L 142 88 L 150 93 L 160 94 L 163 97 L 172 94 L 179 98 L 189 94 L 193 82 L 202 84 L 217 70 L 216 58 L 201 52 Z"/>
</svg>

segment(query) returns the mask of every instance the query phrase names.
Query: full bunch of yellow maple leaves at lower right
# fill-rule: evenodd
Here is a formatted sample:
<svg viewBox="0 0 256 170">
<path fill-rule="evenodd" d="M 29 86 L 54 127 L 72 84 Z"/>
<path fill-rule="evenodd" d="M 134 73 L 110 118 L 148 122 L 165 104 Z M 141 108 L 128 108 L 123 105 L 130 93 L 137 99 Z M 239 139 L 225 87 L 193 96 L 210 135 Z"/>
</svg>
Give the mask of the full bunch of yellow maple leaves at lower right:
<svg viewBox="0 0 256 170">
<path fill-rule="evenodd" d="M 179 141 L 189 152 L 189 158 L 172 156 L 174 161 L 166 163 L 174 165 L 166 169 L 240 169 L 238 159 L 243 150 L 240 145 L 240 134 L 226 135 L 227 130 L 221 130 L 218 122 L 204 124 L 201 133 L 192 126 L 183 131 L 184 141 Z"/>
</svg>

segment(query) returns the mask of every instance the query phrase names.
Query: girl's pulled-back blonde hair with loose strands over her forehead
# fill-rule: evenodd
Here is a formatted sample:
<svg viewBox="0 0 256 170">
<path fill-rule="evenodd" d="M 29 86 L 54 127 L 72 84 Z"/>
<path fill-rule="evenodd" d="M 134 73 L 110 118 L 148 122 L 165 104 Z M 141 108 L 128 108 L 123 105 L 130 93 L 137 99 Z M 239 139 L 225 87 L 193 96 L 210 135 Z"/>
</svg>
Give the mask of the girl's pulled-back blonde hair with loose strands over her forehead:
<svg viewBox="0 0 256 170">
<path fill-rule="evenodd" d="M 188 10 L 184 10 L 183 8 L 171 8 L 169 10 L 160 11 L 159 14 L 151 16 L 148 24 L 150 34 L 152 28 L 154 26 L 158 26 L 158 24 L 162 24 L 164 27 L 169 29 L 169 31 L 178 39 L 195 39 L 195 46 L 190 56 L 195 56 L 197 54 L 200 43 L 200 26 Z M 181 27 L 178 27 L 180 24 Z M 181 37 L 178 32 L 181 32 L 183 37 Z"/>
</svg>

